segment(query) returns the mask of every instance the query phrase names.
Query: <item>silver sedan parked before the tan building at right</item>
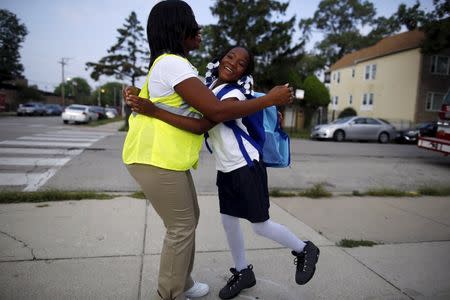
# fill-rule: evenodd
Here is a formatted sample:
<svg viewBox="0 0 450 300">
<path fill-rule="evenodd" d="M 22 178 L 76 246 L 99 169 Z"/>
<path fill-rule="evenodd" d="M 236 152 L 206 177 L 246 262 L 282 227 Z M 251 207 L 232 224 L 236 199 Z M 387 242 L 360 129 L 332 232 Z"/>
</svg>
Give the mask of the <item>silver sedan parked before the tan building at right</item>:
<svg viewBox="0 0 450 300">
<path fill-rule="evenodd" d="M 317 125 L 311 131 L 312 139 L 378 141 L 388 143 L 397 137 L 395 127 L 377 118 L 346 117 L 329 124 Z"/>
</svg>

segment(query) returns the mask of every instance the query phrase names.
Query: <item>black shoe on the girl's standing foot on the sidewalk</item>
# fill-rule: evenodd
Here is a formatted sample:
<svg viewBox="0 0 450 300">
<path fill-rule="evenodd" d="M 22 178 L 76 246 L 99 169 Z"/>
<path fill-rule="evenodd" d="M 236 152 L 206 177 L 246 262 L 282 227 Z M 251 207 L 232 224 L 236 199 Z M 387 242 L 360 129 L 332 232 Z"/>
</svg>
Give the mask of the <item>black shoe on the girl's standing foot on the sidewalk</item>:
<svg viewBox="0 0 450 300">
<path fill-rule="evenodd" d="M 230 272 L 233 276 L 228 279 L 227 285 L 220 290 L 220 299 L 234 298 L 243 289 L 248 289 L 256 284 L 255 273 L 253 273 L 252 265 L 248 265 L 247 268 L 241 270 L 240 272 L 238 272 L 235 268 L 231 268 Z"/>
</svg>

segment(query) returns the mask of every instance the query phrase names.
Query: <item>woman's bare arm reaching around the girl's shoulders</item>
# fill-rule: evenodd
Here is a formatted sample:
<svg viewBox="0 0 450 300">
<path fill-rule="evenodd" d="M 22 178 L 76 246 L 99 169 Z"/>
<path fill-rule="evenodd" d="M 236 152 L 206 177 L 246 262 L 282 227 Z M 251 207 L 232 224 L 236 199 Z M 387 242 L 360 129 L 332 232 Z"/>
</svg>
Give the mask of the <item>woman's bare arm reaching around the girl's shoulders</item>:
<svg viewBox="0 0 450 300">
<path fill-rule="evenodd" d="M 175 91 L 184 101 L 216 123 L 241 118 L 268 106 L 292 103 L 294 99 L 292 88 L 280 85 L 257 99 L 217 101 L 214 94 L 197 77 L 183 80 L 175 86 Z"/>
</svg>

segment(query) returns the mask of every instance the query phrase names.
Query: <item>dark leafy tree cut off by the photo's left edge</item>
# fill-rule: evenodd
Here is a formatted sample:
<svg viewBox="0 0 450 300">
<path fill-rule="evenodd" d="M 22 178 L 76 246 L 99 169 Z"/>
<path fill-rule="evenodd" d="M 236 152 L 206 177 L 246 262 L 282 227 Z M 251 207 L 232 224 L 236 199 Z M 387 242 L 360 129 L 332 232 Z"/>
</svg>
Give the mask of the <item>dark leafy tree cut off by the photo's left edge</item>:
<svg viewBox="0 0 450 300">
<path fill-rule="evenodd" d="M 23 78 L 19 49 L 27 34 L 15 14 L 0 9 L 0 82 Z"/>
</svg>

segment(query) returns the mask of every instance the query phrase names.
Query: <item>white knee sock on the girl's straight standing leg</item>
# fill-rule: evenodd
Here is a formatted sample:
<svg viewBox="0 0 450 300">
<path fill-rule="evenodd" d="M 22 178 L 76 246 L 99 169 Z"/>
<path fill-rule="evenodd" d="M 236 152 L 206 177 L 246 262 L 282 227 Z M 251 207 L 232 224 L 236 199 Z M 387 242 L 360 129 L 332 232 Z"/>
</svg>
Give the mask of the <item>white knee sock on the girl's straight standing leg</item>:
<svg viewBox="0 0 450 300">
<path fill-rule="evenodd" d="M 227 235 L 228 246 L 231 250 L 236 270 L 241 271 L 247 268 L 247 260 L 245 259 L 244 236 L 242 235 L 239 218 L 230 215 L 220 214 L 222 217 L 223 229 Z"/>
</svg>

